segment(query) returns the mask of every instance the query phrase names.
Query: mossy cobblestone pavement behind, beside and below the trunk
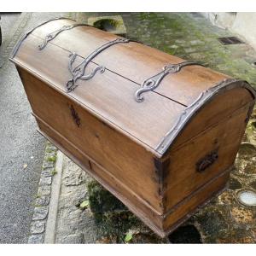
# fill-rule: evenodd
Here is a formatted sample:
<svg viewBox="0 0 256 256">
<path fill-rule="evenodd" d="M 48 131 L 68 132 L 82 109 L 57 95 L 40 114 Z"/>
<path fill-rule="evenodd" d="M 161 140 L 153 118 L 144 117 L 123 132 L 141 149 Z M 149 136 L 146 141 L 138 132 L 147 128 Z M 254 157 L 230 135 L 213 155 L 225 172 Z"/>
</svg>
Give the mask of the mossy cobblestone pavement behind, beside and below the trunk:
<svg viewBox="0 0 256 256">
<path fill-rule="evenodd" d="M 76 14 L 79 21 L 104 14 Z M 113 14 L 117 15 L 117 14 Z M 246 79 L 256 88 L 256 53 L 248 44 L 224 46 L 217 38 L 234 36 L 198 14 L 125 13 L 127 37 L 222 73 Z M 232 129 L 230 127 L 230 129 Z M 240 189 L 256 190 L 256 111 L 237 154 L 230 186 L 207 207 L 162 240 L 113 195 L 71 160 L 65 159 L 55 242 L 58 243 L 253 243 L 256 210 L 236 200 Z"/>
</svg>

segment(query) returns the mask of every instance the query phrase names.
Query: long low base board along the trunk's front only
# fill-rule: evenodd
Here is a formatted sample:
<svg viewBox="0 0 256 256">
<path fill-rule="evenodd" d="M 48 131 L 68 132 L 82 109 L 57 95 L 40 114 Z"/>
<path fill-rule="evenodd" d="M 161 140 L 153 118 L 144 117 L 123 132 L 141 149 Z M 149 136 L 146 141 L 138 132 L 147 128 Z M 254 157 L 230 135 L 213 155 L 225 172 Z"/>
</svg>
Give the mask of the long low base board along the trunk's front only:
<svg viewBox="0 0 256 256">
<path fill-rule="evenodd" d="M 110 172 L 98 165 L 93 160 L 88 159 L 79 148 L 76 148 L 72 143 L 68 142 L 65 137 L 54 131 L 42 119 L 38 119 L 39 132 L 46 137 L 50 142 L 54 143 L 64 154 L 72 159 L 96 181 L 102 184 L 105 189 L 122 201 L 131 212 L 138 218 L 142 219 L 145 224 L 159 236 L 164 236 L 162 233 L 162 218 L 158 212 L 148 205 L 146 201 L 137 196 L 133 190 L 127 188 L 124 183 L 121 183 Z"/>
</svg>

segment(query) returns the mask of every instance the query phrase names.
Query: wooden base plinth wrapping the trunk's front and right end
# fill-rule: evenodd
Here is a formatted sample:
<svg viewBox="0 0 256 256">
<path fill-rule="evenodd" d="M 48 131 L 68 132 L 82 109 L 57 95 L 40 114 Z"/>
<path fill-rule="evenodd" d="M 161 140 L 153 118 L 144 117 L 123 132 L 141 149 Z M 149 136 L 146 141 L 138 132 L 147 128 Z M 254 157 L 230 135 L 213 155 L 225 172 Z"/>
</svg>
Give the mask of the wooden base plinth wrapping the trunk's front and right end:
<svg viewBox="0 0 256 256">
<path fill-rule="evenodd" d="M 228 181 L 230 170 L 222 173 L 219 177 L 213 178 L 209 183 L 202 186 L 195 191 L 189 198 L 181 201 L 177 207 L 173 208 L 172 212 L 168 212 L 166 216 L 159 215 L 152 211 L 147 204 L 134 195 L 133 191 L 123 187 L 122 183 L 113 177 L 102 166 L 97 165 L 95 162 L 90 162 L 90 167 L 87 164 L 84 166 L 84 160 L 87 162 L 87 155 L 84 155 L 79 149 L 73 147 L 64 137 L 61 137 L 53 131 L 48 125 L 38 119 L 38 125 L 44 137 L 49 141 L 55 143 L 55 145 L 67 154 L 76 164 L 88 172 L 99 183 L 102 184 L 105 189 L 108 189 L 114 196 L 122 201 L 131 212 L 141 218 L 145 224 L 156 234 L 161 237 L 167 236 L 172 230 L 177 228 L 177 225 L 182 224 L 192 213 L 196 212 L 201 204 L 205 204 L 207 200 L 210 200 L 212 196 L 216 195 L 218 191 L 224 189 L 225 184 Z M 106 175 L 106 173 L 108 173 Z"/>
</svg>

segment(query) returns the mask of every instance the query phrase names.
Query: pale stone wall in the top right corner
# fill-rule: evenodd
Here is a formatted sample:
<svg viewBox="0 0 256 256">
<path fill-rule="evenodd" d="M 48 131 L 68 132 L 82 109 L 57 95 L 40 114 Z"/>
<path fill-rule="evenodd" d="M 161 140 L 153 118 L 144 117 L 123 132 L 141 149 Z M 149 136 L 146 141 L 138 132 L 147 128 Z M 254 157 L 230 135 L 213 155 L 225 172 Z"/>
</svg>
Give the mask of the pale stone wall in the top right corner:
<svg viewBox="0 0 256 256">
<path fill-rule="evenodd" d="M 202 13 L 213 25 L 236 32 L 256 49 L 256 13 Z"/>
</svg>

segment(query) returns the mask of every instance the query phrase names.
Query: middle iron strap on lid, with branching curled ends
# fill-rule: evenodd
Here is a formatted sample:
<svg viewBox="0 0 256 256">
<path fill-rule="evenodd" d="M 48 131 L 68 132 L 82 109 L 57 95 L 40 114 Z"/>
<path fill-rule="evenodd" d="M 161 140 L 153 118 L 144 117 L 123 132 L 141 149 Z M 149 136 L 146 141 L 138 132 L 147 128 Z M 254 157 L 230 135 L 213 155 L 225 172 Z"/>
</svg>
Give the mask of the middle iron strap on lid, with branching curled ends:
<svg viewBox="0 0 256 256">
<path fill-rule="evenodd" d="M 128 42 L 130 42 L 129 39 L 117 38 L 113 41 L 108 42 L 107 44 L 103 44 L 101 47 L 94 50 L 90 55 L 88 55 L 84 59 L 84 61 L 79 63 L 79 65 L 77 65 L 76 67 L 73 67 L 73 61 L 75 61 L 77 54 L 72 53 L 71 55 L 69 55 L 70 59 L 68 63 L 68 69 L 69 69 L 69 72 L 72 74 L 72 79 L 69 79 L 67 81 L 67 92 L 73 91 L 78 86 L 78 84 L 76 84 L 78 79 L 88 80 L 93 78 L 97 71 L 99 71 L 100 73 L 103 73 L 105 71 L 105 67 L 98 66 L 95 69 L 93 69 L 92 72 L 90 72 L 89 74 L 84 75 L 86 67 L 88 66 L 90 61 L 96 57 L 96 55 L 101 53 L 104 49 L 107 49 L 108 47 L 112 46 L 113 44 L 128 43 Z"/>
</svg>

